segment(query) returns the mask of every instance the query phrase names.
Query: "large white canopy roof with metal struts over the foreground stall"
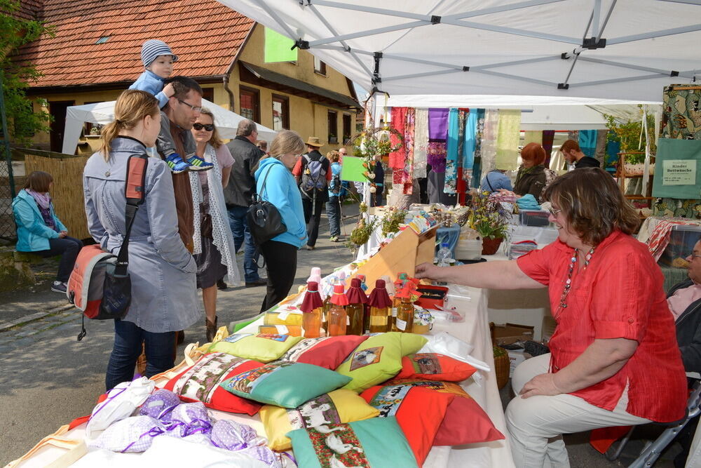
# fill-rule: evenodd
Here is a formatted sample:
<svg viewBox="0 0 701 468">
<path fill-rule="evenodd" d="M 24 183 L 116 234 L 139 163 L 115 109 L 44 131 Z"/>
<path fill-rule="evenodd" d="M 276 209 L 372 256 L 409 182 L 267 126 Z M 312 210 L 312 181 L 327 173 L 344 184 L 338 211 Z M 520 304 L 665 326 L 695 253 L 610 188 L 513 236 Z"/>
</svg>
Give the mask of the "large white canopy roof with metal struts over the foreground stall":
<svg viewBox="0 0 701 468">
<path fill-rule="evenodd" d="M 367 90 L 660 101 L 701 69 L 700 0 L 220 0 Z"/>
</svg>

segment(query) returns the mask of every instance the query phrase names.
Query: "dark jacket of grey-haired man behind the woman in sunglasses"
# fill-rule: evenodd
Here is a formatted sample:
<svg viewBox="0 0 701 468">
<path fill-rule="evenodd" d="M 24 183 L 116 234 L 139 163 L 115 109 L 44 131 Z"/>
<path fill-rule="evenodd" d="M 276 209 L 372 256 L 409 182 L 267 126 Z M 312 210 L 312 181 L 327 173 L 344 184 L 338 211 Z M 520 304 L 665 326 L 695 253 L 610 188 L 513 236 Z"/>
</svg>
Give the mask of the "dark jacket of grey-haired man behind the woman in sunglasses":
<svg viewBox="0 0 701 468">
<path fill-rule="evenodd" d="M 232 206 L 248 208 L 251 204 L 251 196 L 253 196 L 256 183 L 253 173 L 264 152 L 242 136 L 238 136 L 231 142 L 226 143 L 226 147 L 229 148 L 231 156 L 233 156 L 229 185 L 224 188 L 226 208 L 231 208 Z"/>
</svg>

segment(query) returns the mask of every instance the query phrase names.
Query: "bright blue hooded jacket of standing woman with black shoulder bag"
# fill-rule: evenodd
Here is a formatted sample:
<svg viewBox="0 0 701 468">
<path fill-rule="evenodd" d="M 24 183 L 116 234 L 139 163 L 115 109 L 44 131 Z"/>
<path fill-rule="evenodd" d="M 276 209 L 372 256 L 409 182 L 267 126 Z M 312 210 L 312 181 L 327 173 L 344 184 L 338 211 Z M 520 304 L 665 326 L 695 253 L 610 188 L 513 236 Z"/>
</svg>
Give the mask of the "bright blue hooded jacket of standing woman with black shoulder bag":
<svg viewBox="0 0 701 468">
<path fill-rule="evenodd" d="M 265 189 L 261 192 L 268 171 L 270 175 L 265 182 Z M 278 208 L 287 227 L 287 231 L 273 237 L 272 240 L 289 243 L 297 248 L 304 246 L 307 241 L 304 208 L 302 208 L 302 196 L 292 172 L 277 159 L 266 158 L 261 159 L 255 177 L 256 192 L 262 199 L 273 203 L 275 208 Z"/>
</svg>

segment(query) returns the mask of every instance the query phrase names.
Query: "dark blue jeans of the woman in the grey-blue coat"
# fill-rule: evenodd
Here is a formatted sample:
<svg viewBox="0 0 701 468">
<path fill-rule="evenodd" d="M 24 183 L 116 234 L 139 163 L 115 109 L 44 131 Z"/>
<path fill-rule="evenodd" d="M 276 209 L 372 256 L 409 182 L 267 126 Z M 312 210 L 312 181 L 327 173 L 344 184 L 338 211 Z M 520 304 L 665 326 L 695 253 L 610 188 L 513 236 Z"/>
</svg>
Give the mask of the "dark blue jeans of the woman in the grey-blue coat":
<svg viewBox="0 0 701 468">
<path fill-rule="evenodd" d="M 143 330 L 136 323 L 114 321 L 114 347 L 109 355 L 104 385 L 107 391 L 121 382 L 134 379 L 134 368 L 144 343 L 146 352 L 145 377 L 151 377 L 175 365 L 175 332 L 154 333 Z"/>
</svg>

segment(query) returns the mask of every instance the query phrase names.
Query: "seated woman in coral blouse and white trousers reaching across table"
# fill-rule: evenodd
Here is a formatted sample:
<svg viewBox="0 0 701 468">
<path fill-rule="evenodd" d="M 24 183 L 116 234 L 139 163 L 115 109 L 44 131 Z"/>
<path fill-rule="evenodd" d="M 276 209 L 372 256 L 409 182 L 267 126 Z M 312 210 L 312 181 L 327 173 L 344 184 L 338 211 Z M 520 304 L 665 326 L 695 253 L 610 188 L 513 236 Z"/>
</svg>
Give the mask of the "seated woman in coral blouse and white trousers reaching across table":
<svg viewBox="0 0 701 468">
<path fill-rule="evenodd" d="M 669 422 L 684 415 L 686 377 L 662 272 L 631 234 L 637 216 L 610 175 L 584 168 L 545 191 L 558 240 L 528 255 L 419 278 L 477 288 L 548 288 L 551 354 L 514 372 L 506 410 L 517 467 L 569 466 L 562 434 Z"/>
</svg>

